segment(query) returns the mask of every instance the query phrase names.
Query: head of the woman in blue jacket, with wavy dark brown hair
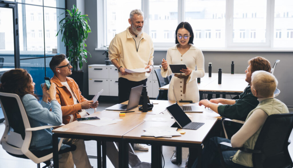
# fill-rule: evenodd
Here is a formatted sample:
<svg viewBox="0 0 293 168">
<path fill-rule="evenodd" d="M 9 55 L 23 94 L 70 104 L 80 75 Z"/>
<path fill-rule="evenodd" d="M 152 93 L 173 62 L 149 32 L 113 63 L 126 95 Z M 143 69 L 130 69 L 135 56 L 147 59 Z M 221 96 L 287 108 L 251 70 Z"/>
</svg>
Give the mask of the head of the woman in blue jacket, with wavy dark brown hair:
<svg viewBox="0 0 293 168">
<path fill-rule="evenodd" d="M 12 69 L 5 72 L 1 76 L 0 91 L 6 93 L 14 93 L 23 97 L 26 94 L 37 95 L 32 93 L 32 78 L 25 69 Z"/>
</svg>

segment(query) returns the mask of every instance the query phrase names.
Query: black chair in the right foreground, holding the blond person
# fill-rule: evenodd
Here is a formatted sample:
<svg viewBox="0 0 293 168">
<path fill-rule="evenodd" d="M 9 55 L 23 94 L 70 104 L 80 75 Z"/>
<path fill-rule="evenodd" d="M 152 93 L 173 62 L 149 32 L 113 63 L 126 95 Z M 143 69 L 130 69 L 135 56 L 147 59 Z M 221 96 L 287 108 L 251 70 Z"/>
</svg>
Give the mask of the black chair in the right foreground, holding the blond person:
<svg viewBox="0 0 293 168">
<path fill-rule="evenodd" d="M 288 145 L 290 144 L 289 136 L 292 128 L 293 113 L 270 115 L 260 131 L 254 149 L 239 149 L 252 153 L 255 168 L 291 168 L 293 163 L 288 152 Z M 218 149 L 221 155 L 221 164 L 226 167 L 220 145 L 225 145 L 225 143 L 220 143 Z"/>
</svg>

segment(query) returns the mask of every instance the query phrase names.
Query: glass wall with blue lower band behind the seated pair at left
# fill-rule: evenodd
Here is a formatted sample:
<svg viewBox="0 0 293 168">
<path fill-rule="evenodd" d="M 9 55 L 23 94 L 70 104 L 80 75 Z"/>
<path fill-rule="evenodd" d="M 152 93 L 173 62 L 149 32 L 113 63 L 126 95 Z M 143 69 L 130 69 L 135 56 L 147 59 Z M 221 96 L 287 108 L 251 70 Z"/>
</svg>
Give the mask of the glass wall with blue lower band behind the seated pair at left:
<svg viewBox="0 0 293 168">
<path fill-rule="evenodd" d="M 14 1 L 14 0 L 13 0 Z M 49 62 L 58 53 L 66 53 L 59 30 L 59 20 L 65 17 L 65 0 L 16 0 L 18 6 L 18 32 L 20 68 L 32 75 L 36 94 L 42 95 L 40 84 L 44 77 L 53 77 Z M 4 68 L 14 68 L 12 13 L 0 10 L 0 57 L 4 57 Z M 4 31 L 9 30 L 9 31 Z M 5 32 L 5 33 L 1 33 Z M 1 42 L 4 45 L 1 45 Z M 5 45 L 9 44 L 9 45 Z M 11 45 L 12 44 L 12 45 Z M 49 61 L 49 62 L 48 62 Z"/>
</svg>

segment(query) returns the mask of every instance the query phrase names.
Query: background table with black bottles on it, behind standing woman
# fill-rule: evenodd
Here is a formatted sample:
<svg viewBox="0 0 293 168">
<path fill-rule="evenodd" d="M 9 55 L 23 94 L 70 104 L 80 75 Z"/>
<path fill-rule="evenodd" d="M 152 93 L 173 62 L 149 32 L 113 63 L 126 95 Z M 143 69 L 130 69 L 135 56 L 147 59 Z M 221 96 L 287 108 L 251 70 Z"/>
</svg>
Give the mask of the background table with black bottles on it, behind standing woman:
<svg viewBox="0 0 293 168">
<path fill-rule="evenodd" d="M 246 75 L 242 73 L 222 73 L 222 84 L 218 84 L 218 73 L 212 73 L 212 77 L 209 77 L 209 73 L 205 73 L 205 76 L 200 78 L 198 89 L 200 94 L 216 94 L 216 97 L 219 97 L 219 94 L 222 94 L 223 98 L 227 94 L 240 95 L 248 85 L 245 78 Z M 159 88 L 159 90 L 168 89 L 169 84 Z"/>
</svg>

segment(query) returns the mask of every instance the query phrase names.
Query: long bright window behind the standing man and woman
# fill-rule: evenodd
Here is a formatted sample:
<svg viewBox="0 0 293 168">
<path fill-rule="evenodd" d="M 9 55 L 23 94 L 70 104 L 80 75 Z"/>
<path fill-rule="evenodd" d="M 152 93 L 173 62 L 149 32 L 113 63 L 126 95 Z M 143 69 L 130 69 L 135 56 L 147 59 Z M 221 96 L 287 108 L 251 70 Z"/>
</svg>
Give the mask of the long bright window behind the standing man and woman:
<svg viewBox="0 0 293 168">
<path fill-rule="evenodd" d="M 144 12 L 144 32 L 155 48 L 174 45 L 176 27 L 185 21 L 193 28 L 194 44 L 202 49 L 293 49 L 292 0 L 98 0 L 98 4 L 106 4 L 100 13 L 104 17 L 98 17 L 98 25 L 106 25 L 98 28 L 98 48 L 124 31 L 130 11 L 139 8 Z M 128 5 L 121 9 L 121 4 Z"/>
</svg>

